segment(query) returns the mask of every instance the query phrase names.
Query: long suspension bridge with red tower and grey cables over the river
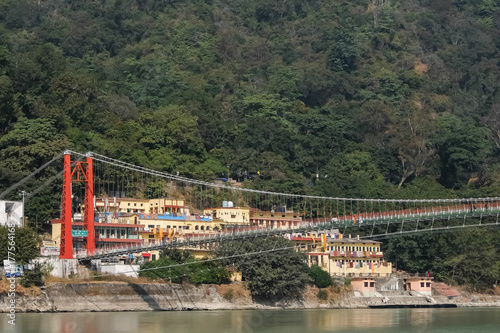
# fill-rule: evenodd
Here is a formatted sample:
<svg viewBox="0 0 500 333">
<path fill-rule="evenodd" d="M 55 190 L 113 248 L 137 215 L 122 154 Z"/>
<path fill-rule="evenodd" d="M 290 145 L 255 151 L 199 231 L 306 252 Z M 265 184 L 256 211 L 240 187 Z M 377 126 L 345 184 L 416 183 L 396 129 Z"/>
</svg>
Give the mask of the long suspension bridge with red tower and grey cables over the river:
<svg viewBox="0 0 500 333">
<path fill-rule="evenodd" d="M 65 151 L 42 165 L 26 178 L 0 194 L 0 199 L 29 182 L 45 168 L 61 165 L 58 170 L 27 196 L 28 201 L 44 187 L 59 179 L 62 181 L 60 258 L 76 257 L 80 262 L 112 256 L 162 250 L 168 248 L 195 248 L 229 240 L 255 237 L 273 237 L 287 234 L 307 234 L 318 230 L 339 229 L 343 232 L 357 228 L 362 238 L 380 238 L 429 231 L 453 230 L 469 227 L 498 226 L 500 198 L 454 198 L 433 200 L 365 199 L 278 193 L 235 186 L 228 182 L 208 182 L 182 177 L 137 166 L 97 153 Z M 179 237 L 143 239 L 138 237 L 115 239 L 113 246 L 102 246 L 96 227 L 128 227 L 118 221 L 132 211 L 141 218 L 158 218 L 156 207 L 127 209 L 119 212 L 116 205 L 96 208 L 96 197 L 142 197 L 159 199 L 175 195 L 183 197 L 190 221 L 211 220 L 205 212 L 230 201 L 234 207 L 246 207 L 254 215 L 248 223 L 224 230 L 206 232 L 186 230 Z M 75 214 L 73 198 L 83 198 L 83 232 L 81 248 L 74 248 Z M 107 200 L 107 199 L 106 199 Z M 135 207 L 134 207 L 135 208 Z M 147 211 L 150 209 L 150 211 Z M 113 211 L 114 210 L 114 211 Z M 265 213 L 265 214 L 264 214 Z M 174 214 L 175 215 L 175 214 Z M 174 219 L 177 216 L 161 216 Z M 265 216 L 265 217 L 262 217 Z M 101 218 L 104 217 L 104 222 Z M 218 217 L 220 218 L 220 217 Z M 274 220 L 272 224 L 268 220 Z M 121 220 L 120 220 L 121 221 Z M 471 222 L 479 221 L 479 222 Z M 137 225 L 139 225 L 136 221 Z M 137 227 L 142 228 L 143 227 Z M 160 232 L 161 234 L 161 232 Z M 137 236 L 137 235 L 133 235 Z M 127 241 L 129 239 L 129 241 Z M 132 241 L 133 240 L 133 241 Z M 96 244 L 101 246 L 96 246 Z M 120 245 L 121 244 L 121 245 Z"/>
</svg>

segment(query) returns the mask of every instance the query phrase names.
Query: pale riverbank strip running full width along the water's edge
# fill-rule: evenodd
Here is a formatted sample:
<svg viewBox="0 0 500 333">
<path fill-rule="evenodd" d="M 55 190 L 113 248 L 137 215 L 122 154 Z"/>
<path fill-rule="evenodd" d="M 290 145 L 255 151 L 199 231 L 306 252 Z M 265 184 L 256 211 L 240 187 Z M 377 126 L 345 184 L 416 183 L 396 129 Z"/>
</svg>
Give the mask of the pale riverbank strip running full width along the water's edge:
<svg viewBox="0 0 500 333">
<path fill-rule="evenodd" d="M 45 289 L 18 291 L 16 312 L 104 312 L 181 311 L 250 309 L 350 309 L 370 307 L 500 307 L 500 296 L 467 294 L 458 297 L 383 295 L 360 297 L 345 288 L 327 288 L 327 297 L 318 299 L 319 289 L 308 287 L 300 300 L 254 302 L 241 284 L 189 285 L 134 282 L 49 283 Z M 7 311 L 6 293 L 0 291 L 0 312 Z"/>
</svg>

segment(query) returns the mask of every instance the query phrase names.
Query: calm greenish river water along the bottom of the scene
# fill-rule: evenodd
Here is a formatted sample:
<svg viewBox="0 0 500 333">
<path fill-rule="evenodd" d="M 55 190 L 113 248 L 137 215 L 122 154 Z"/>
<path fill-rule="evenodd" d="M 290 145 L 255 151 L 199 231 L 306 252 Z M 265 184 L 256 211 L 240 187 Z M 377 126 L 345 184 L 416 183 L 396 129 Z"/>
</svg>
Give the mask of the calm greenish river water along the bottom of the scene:
<svg viewBox="0 0 500 333">
<path fill-rule="evenodd" d="M 500 308 L 0 314 L 16 333 L 500 332 Z"/>
</svg>

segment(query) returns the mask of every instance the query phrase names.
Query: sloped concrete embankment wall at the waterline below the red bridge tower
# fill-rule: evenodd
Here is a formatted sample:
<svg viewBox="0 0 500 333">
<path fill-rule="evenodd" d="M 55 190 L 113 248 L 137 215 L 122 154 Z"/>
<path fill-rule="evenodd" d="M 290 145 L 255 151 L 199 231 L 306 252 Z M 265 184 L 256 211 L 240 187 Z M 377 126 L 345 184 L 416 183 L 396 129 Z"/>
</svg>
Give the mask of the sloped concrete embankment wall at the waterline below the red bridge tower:
<svg viewBox="0 0 500 333">
<path fill-rule="evenodd" d="M 0 296 L 0 312 L 6 295 Z M 167 311 L 232 308 L 214 285 L 54 283 L 37 296 L 18 296 L 17 312 Z"/>
</svg>

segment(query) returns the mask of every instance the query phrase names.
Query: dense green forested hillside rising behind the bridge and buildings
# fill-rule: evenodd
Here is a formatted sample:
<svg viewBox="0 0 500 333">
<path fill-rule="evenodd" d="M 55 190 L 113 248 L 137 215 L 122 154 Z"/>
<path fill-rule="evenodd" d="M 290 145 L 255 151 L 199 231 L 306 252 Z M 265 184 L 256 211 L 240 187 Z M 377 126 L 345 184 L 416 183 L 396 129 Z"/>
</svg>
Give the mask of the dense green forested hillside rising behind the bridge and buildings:
<svg viewBox="0 0 500 333">
<path fill-rule="evenodd" d="M 69 147 L 276 191 L 498 196 L 499 48 L 499 0 L 0 0 L 0 190 Z"/>
</svg>

